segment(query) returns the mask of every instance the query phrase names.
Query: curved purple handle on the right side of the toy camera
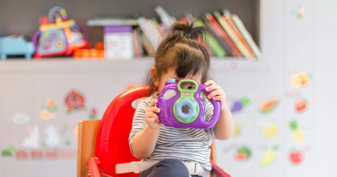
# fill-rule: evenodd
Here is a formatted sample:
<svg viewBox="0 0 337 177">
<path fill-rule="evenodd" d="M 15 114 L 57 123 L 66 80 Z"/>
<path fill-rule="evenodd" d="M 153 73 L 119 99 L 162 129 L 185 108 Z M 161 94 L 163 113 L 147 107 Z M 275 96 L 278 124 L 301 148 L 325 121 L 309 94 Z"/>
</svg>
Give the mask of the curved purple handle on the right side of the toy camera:
<svg viewBox="0 0 337 177">
<path fill-rule="evenodd" d="M 201 92 L 206 92 L 207 94 L 210 94 L 213 92 L 213 90 L 211 91 L 206 91 L 206 87 L 208 87 L 208 85 L 204 85 L 204 84 L 199 84 L 199 89 L 195 94 L 200 94 Z M 218 100 L 212 100 L 212 104 L 214 106 L 213 109 L 213 117 L 211 118 L 210 121 L 205 121 L 204 119 L 202 119 L 201 121 L 204 122 L 205 124 L 208 125 L 208 128 L 213 127 L 219 120 L 220 118 L 220 112 L 221 112 L 221 105 L 220 105 L 220 101 Z"/>
</svg>

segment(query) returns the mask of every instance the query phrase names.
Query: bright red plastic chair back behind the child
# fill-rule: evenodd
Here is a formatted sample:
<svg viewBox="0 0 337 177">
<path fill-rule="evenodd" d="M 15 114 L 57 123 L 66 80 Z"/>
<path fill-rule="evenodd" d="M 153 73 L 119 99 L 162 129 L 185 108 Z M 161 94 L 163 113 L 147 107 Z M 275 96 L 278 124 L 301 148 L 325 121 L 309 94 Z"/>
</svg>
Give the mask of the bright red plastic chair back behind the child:
<svg viewBox="0 0 337 177">
<path fill-rule="evenodd" d="M 131 103 L 138 98 L 147 97 L 148 92 L 148 86 L 133 87 L 119 94 L 105 110 L 98 126 L 95 146 L 100 173 L 113 177 L 138 176 L 135 173 L 115 174 L 115 165 L 140 161 L 132 155 L 128 142 L 135 111 Z"/>
</svg>

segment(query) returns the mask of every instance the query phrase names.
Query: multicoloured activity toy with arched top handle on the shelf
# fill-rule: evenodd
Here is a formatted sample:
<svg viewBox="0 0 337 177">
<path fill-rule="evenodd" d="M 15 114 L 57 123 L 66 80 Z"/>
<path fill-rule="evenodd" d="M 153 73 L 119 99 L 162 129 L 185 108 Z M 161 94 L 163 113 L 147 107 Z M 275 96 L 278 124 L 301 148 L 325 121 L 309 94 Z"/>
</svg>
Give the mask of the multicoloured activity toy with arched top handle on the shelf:
<svg viewBox="0 0 337 177">
<path fill-rule="evenodd" d="M 74 50 L 88 48 L 87 30 L 79 23 L 67 18 L 62 7 L 53 7 L 48 16 L 40 19 L 40 28 L 33 36 L 34 57 L 70 55 Z M 83 33 L 84 34 L 83 34 Z"/>
</svg>

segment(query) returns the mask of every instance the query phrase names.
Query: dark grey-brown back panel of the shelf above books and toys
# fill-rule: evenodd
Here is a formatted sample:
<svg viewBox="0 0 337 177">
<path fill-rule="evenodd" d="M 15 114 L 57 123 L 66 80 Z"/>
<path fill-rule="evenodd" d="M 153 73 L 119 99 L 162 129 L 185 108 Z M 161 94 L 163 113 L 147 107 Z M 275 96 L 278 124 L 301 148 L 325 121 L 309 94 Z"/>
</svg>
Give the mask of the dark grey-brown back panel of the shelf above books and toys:
<svg viewBox="0 0 337 177">
<path fill-rule="evenodd" d="M 33 6 L 31 4 L 39 4 Z M 187 1 L 164 1 L 158 0 L 156 2 L 138 2 L 135 0 L 125 1 L 82 1 L 81 4 L 76 2 L 53 2 L 47 0 L 43 3 L 37 0 L 28 3 L 20 1 L 20 6 L 9 0 L 4 1 L 6 4 L 1 12 L 4 17 L 0 18 L 1 33 L 0 36 L 8 36 L 12 34 L 26 34 L 32 37 L 38 29 L 38 19 L 43 11 L 48 11 L 53 6 L 61 6 L 66 9 L 68 17 L 74 19 L 76 22 L 83 25 L 88 19 L 95 17 L 117 17 L 130 18 L 134 12 L 140 12 L 146 18 L 155 17 L 159 20 L 159 16 L 154 11 L 156 5 L 162 5 L 172 16 L 180 19 L 184 16 L 184 12 L 189 12 L 193 16 L 201 17 L 205 12 L 212 12 L 213 10 L 229 9 L 233 14 L 237 14 L 247 27 L 249 33 L 252 35 L 254 41 L 259 43 L 259 0 L 238 0 L 232 1 L 211 0 L 187 0 Z M 131 4 L 131 5 L 130 5 Z M 16 15 L 13 16 L 13 9 L 16 10 Z M 84 13 L 85 12 L 85 13 Z M 23 28 L 24 27 L 24 28 Z M 24 29 L 24 31 L 23 31 Z M 101 27 L 87 27 L 89 31 L 89 41 L 95 44 L 103 40 L 103 32 Z"/>
</svg>

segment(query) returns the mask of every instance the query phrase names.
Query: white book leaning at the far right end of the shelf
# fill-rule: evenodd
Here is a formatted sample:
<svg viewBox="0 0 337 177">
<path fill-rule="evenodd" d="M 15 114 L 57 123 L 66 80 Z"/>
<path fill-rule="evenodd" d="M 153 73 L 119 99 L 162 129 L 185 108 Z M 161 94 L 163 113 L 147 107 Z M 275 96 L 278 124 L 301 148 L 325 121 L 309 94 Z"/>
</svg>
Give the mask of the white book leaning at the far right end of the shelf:
<svg viewBox="0 0 337 177">
<path fill-rule="evenodd" d="M 238 28 L 244 39 L 246 40 L 247 44 L 249 45 L 250 49 L 254 52 L 254 55 L 257 59 L 261 59 L 261 51 L 259 47 L 253 40 L 253 37 L 250 35 L 248 30 L 246 29 L 245 25 L 242 23 L 241 19 L 233 14 L 232 21 L 234 22 L 235 26 Z"/>
</svg>

